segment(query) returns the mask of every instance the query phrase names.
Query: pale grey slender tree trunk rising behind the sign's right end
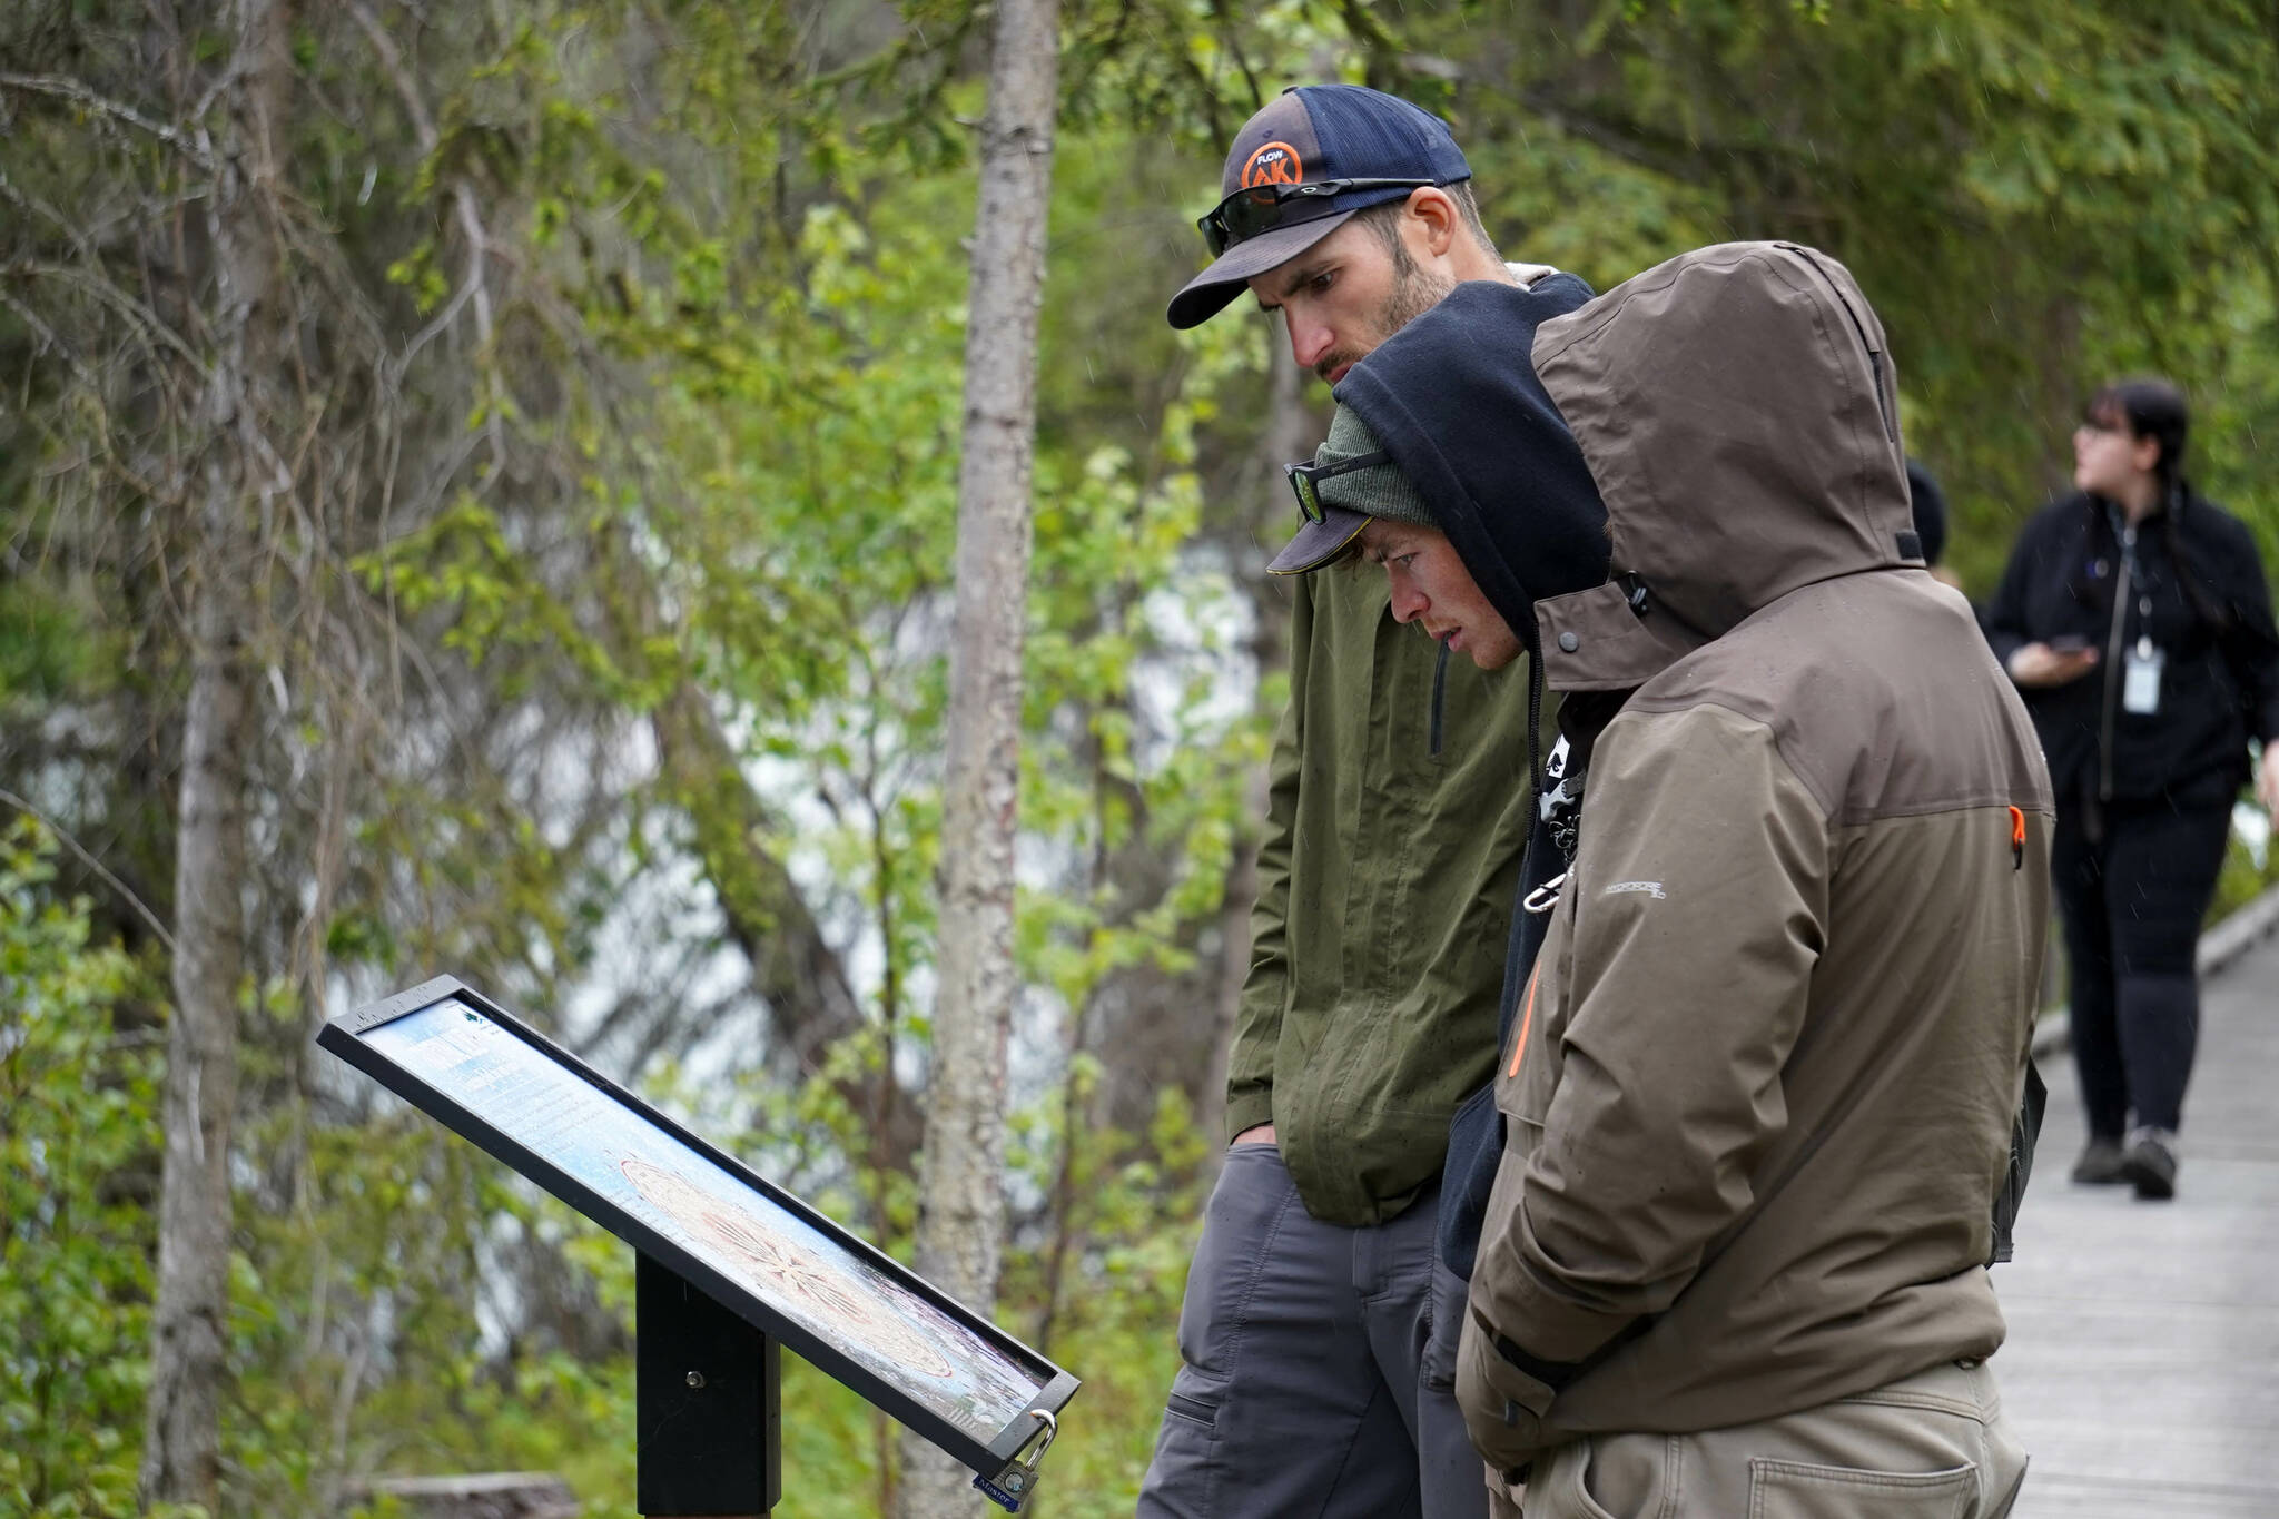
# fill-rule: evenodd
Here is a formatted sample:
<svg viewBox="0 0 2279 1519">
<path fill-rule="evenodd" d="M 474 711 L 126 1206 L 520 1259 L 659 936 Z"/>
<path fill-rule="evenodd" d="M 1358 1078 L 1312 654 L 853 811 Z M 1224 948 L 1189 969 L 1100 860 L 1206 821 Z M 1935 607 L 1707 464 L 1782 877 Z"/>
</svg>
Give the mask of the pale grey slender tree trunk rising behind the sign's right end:
<svg viewBox="0 0 2279 1519">
<path fill-rule="evenodd" d="M 1044 301 L 1057 93 L 1060 0 L 998 0 L 966 287 L 941 952 L 918 1171 L 918 1271 L 980 1314 L 996 1309 L 1005 1225 L 1021 642 L 1037 444 L 1037 307 Z M 905 1432 L 898 1519 L 948 1519 L 982 1505 L 964 1467 Z"/>
</svg>

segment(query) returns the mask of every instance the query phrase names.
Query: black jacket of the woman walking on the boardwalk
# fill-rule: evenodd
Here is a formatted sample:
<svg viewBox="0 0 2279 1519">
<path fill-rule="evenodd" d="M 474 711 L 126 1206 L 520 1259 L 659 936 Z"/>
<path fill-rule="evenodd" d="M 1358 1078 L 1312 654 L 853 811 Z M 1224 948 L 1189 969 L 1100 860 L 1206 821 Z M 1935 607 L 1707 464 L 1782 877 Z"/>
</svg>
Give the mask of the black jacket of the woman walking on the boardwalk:
<svg viewBox="0 0 2279 1519">
<path fill-rule="evenodd" d="M 2088 640 L 2099 654 L 2078 681 L 2024 692 L 2060 808 L 2099 797 L 2229 799 L 2247 779 L 2247 740 L 2279 740 L 2279 633 L 2256 540 L 2195 494 L 2174 522 L 2145 519 L 2131 563 L 2117 522 L 2117 508 L 2078 492 L 2042 508 L 1987 606 L 1987 640 L 2003 665 L 2021 644 L 2053 638 Z M 2131 590 L 2115 622 L 2122 578 Z M 2122 701 L 2140 638 L 2163 656 L 2160 706 L 2145 715 Z"/>
</svg>

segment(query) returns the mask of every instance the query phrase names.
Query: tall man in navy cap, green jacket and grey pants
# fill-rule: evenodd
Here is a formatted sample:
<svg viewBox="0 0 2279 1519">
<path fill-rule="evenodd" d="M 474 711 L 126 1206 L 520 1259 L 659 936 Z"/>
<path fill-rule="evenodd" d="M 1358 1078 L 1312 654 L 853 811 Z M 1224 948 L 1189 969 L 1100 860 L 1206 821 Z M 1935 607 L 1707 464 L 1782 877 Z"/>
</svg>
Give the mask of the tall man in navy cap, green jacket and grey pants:
<svg viewBox="0 0 2279 1519">
<path fill-rule="evenodd" d="M 1335 385 L 1468 280 L 1582 305 L 1582 280 L 1502 262 L 1470 173 L 1447 125 L 1406 100 L 1283 91 L 1235 134 L 1199 223 L 1212 264 L 1167 317 L 1192 328 L 1251 294 L 1297 364 Z M 1349 485 L 1367 492 L 1358 471 Z M 1381 574 L 1299 574 L 1356 531 L 1340 517 L 1331 542 L 1322 517 L 1304 512 L 1306 547 L 1274 563 L 1294 599 L 1290 708 L 1228 1057 L 1231 1146 L 1142 1519 L 1486 1514 L 1452 1391 L 1465 1282 L 1436 1257 L 1436 1227 L 1449 1116 L 1495 1064 L 1529 822 L 1527 676 L 1477 649 L 1449 663 L 1402 626 Z"/>
</svg>

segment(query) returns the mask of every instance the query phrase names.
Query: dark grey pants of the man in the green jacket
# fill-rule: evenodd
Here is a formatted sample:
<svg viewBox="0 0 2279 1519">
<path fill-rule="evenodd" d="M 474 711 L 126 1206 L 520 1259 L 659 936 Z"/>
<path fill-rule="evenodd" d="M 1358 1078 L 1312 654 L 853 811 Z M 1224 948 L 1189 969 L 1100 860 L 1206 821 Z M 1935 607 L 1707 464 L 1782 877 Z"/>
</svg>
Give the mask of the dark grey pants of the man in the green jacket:
<svg viewBox="0 0 2279 1519">
<path fill-rule="evenodd" d="M 1226 1152 L 1140 1519 L 1486 1519 L 1436 1221 L 1438 1187 L 1390 1223 L 1320 1223 L 1274 1146 Z"/>
</svg>

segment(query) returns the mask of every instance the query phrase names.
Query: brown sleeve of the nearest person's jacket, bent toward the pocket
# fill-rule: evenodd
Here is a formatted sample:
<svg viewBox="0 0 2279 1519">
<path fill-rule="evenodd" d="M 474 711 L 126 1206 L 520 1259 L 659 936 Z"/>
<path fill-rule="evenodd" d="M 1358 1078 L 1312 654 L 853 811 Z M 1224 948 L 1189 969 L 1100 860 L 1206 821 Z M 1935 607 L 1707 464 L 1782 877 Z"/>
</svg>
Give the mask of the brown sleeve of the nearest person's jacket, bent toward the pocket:
<svg viewBox="0 0 2279 1519">
<path fill-rule="evenodd" d="M 1543 1380 L 1666 1309 L 1748 1209 L 1789 1120 L 1828 849 L 1825 813 L 1762 722 L 1691 706 L 1600 738 L 1559 1077 L 1475 1278 L 1484 1328 Z"/>
</svg>

